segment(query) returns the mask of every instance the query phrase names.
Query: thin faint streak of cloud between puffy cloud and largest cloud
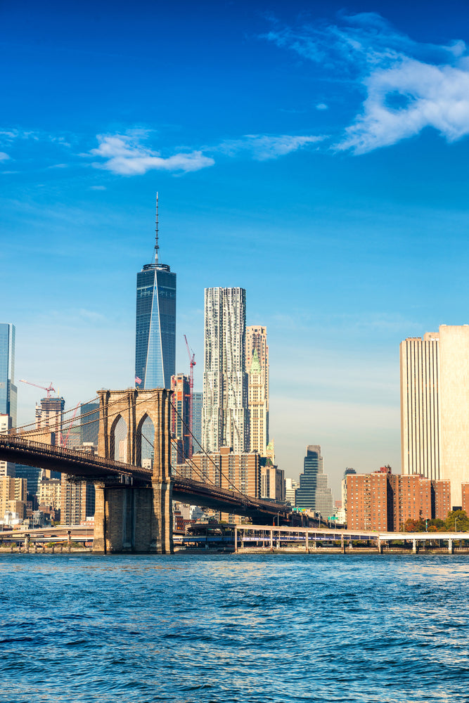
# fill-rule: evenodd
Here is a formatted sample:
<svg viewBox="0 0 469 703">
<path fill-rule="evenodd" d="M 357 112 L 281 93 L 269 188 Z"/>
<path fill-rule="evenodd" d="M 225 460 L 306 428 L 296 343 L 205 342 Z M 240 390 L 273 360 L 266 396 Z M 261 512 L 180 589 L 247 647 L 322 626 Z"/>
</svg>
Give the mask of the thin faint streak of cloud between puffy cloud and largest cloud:
<svg viewBox="0 0 469 703">
<path fill-rule="evenodd" d="M 229 139 L 221 142 L 218 149 L 223 153 L 234 156 L 238 153 L 249 152 L 257 161 L 277 159 L 309 144 L 323 141 L 325 136 L 292 136 L 280 134 L 246 134 L 240 139 Z"/>
</svg>

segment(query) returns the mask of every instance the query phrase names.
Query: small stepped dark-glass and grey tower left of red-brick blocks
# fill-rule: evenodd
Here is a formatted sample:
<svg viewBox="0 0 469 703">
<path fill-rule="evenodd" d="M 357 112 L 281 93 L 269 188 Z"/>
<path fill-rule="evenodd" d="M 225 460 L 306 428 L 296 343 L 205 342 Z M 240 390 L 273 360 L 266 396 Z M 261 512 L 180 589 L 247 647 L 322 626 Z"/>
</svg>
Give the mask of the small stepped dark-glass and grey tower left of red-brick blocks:
<svg viewBox="0 0 469 703">
<path fill-rule="evenodd" d="M 323 458 L 319 444 L 309 444 L 304 457 L 304 469 L 300 474 L 300 488 L 295 495 L 297 508 L 319 512 L 326 520 L 333 514 L 332 491 L 328 477 L 323 473 Z"/>
</svg>

